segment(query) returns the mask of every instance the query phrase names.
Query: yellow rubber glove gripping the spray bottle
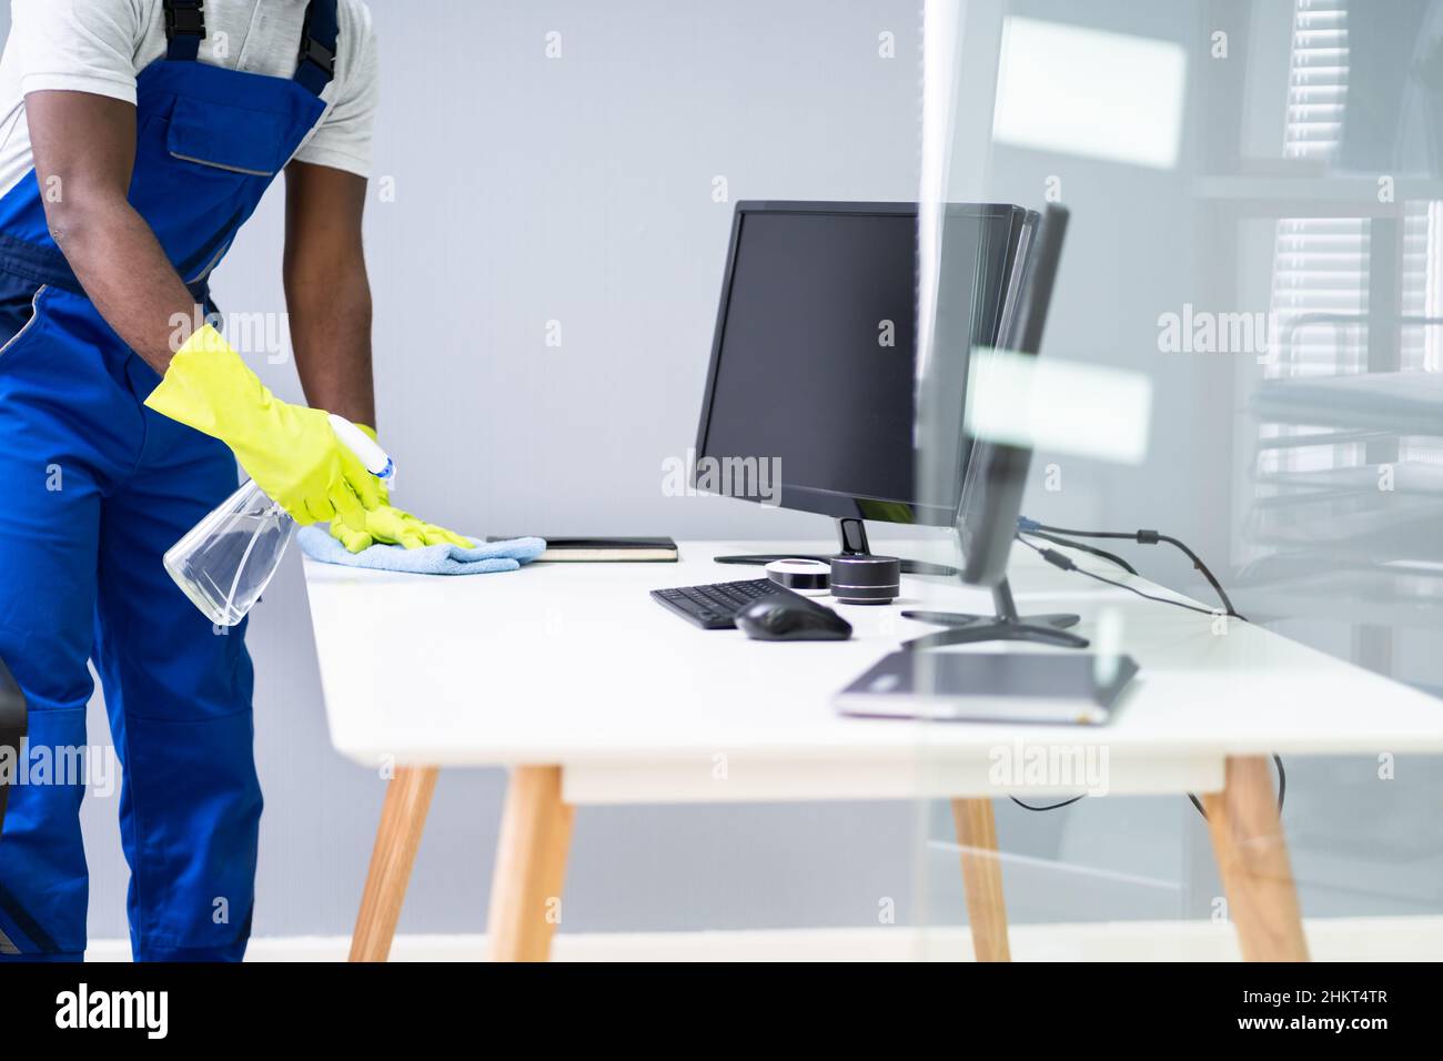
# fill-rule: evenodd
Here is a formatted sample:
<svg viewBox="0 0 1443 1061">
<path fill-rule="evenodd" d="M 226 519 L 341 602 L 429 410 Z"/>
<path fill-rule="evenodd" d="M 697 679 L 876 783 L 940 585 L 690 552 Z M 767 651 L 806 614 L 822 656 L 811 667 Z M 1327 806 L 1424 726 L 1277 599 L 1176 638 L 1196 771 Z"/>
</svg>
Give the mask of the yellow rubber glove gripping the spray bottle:
<svg viewBox="0 0 1443 1061">
<path fill-rule="evenodd" d="M 330 430 L 326 411 L 271 394 L 206 325 L 170 359 L 146 406 L 229 446 L 266 497 L 296 523 L 367 524 L 381 484 Z"/>
</svg>

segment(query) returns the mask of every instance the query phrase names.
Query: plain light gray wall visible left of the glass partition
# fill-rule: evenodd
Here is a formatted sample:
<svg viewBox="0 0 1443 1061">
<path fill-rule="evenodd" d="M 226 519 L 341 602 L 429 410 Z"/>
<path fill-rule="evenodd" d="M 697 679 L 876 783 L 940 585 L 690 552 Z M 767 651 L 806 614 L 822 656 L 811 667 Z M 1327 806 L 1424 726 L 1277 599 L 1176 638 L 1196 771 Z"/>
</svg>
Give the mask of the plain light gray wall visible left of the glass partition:
<svg viewBox="0 0 1443 1061">
<path fill-rule="evenodd" d="M 662 495 L 694 440 L 730 225 L 713 201 L 912 199 L 911 0 L 726 4 L 372 0 L 384 102 L 367 253 L 398 502 L 473 533 L 830 534 Z M 561 59 L 544 36 L 561 33 Z M 898 56 L 877 55 L 896 35 Z M 283 309 L 276 188 L 216 279 Z M 563 345 L 545 345 L 561 322 Z M 289 364 L 258 364 L 300 398 Z M 300 564 L 255 611 L 266 790 L 257 934 L 349 933 L 382 782 L 330 751 Z M 92 715 L 92 735 L 104 735 Z M 481 931 L 504 777 L 449 771 L 401 931 Z M 88 800 L 91 933 L 124 934 L 114 800 Z M 583 810 L 567 928 L 876 924 L 911 894 L 911 808 Z"/>
</svg>

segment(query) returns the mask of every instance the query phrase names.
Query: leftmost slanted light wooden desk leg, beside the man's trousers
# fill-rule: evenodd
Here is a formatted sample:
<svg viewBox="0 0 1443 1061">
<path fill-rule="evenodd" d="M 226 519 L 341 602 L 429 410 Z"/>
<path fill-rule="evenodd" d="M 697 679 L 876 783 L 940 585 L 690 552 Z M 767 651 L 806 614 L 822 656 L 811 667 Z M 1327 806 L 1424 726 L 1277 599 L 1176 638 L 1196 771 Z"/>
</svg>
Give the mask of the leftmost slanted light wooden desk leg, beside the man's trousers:
<svg viewBox="0 0 1443 1061">
<path fill-rule="evenodd" d="M 352 961 L 385 961 L 391 954 L 395 922 L 401 920 L 405 885 L 411 879 L 416 850 L 421 846 L 426 814 L 436 791 L 436 767 L 397 767 L 387 782 L 381 826 L 375 830 L 371 870 L 367 873 L 355 935 L 351 937 Z"/>
</svg>

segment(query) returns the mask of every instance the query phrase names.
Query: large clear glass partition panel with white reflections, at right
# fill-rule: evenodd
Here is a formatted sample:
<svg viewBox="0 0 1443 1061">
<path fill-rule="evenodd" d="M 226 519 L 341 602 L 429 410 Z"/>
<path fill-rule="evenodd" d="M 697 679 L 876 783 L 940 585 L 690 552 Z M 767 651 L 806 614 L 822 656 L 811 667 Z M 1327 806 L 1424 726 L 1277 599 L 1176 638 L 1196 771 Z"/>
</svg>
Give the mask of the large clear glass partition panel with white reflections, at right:
<svg viewBox="0 0 1443 1061">
<path fill-rule="evenodd" d="M 1294 678 L 1443 687 L 1443 1 L 924 25 L 918 475 L 960 570 L 900 631 L 928 956 L 1006 953 L 1003 904 L 1014 957 L 1237 956 L 1231 777 L 1283 803 L 1315 957 L 1437 957 L 1443 767 L 1333 741 Z"/>
</svg>

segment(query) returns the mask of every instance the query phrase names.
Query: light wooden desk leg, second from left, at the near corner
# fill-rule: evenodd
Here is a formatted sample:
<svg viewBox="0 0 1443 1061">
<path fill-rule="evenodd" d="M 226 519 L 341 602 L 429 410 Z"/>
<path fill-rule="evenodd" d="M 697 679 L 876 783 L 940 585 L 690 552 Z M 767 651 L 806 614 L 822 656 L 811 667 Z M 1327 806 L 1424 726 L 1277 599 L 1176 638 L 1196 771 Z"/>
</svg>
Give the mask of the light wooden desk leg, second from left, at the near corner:
<svg viewBox="0 0 1443 1061">
<path fill-rule="evenodd" d="M 511 771 L 491 881 L 491 960 L 545 961 L 561 918 L 573 808 L 561 801 L 560 767 Z"/>
</svg>

